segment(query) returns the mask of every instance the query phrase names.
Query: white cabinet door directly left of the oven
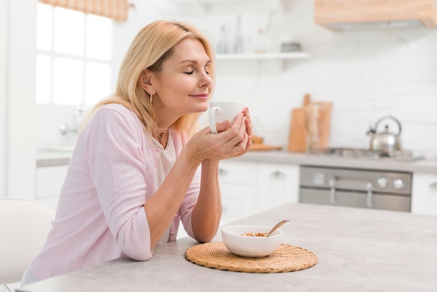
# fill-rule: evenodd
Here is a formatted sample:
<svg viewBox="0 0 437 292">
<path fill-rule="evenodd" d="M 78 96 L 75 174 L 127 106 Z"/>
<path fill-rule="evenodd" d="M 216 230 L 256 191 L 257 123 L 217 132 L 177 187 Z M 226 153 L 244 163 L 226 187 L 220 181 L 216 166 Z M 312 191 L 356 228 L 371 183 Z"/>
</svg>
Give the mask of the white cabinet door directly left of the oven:
<svg viewBox="0 0 437 292">
<path fill-rule="evenodd" d="M 299 166 L 258 163 L 257 212 L 299 200 Z"/>
</svg>

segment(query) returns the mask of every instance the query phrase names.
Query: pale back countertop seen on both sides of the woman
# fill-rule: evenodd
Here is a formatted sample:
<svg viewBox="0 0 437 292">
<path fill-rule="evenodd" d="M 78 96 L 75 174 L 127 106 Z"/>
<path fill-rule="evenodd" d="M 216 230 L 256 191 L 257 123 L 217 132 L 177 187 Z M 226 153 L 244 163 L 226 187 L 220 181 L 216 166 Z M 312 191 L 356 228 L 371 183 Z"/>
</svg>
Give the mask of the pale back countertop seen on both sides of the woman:
<svg viewBox="0 0 437 292">
<path fill-rule="evenodd" d="M 40 150 L 37 152 L 36 166 L 44 167 L 67 165 L 70 162 L 71 154 L 71 151 Z M 437 159 L 393 161 L 392 159 L 346 158 L 272 150 L 251 151 L 233 160 L 290 163 L 306 166 L 406 171 L 410 173 L 437 173 Z"/>
</svg>

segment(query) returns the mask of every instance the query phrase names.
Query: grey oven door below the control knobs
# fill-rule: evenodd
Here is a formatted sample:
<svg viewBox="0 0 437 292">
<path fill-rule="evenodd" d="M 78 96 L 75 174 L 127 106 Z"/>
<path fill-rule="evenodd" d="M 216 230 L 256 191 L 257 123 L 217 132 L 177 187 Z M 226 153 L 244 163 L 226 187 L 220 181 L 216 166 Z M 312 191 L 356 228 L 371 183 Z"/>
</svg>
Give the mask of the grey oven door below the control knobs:
<svg viewBox="0 0 437 292">
<path fill-rule="evenodd" d="M 337 205 L 344 207 L 362 207 L 378 210 L 410 212 L 410 196 L 373 193 L 370 197 L 358 191 L 341 191 L 331 194 L 329 189 L 299 190 L 299 203 L 318 205 Z"/>
</svg>

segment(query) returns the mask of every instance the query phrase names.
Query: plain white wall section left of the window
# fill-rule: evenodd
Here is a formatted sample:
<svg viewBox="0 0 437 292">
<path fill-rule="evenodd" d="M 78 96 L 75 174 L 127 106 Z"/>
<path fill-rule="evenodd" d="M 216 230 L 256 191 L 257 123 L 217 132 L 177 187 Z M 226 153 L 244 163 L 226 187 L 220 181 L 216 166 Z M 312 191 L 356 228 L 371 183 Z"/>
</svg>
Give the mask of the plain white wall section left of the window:
<svg viewBox="0 0 437 292">
<path fill-rule="evenodd" d="M 36 1 L 0 8 L 0 196 L 34 198 Z"/>
</svg>

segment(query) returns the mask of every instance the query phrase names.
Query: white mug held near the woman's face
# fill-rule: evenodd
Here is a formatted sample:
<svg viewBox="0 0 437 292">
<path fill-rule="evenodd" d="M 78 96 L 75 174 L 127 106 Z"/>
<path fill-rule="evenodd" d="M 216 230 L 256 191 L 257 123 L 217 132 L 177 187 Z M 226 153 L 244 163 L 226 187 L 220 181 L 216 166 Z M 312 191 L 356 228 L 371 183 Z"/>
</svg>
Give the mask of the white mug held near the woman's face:
<svg viewBox="0 0 437 292">
<path fill-rule="evenodd" d="M 235 117 L 244 109 L 244 103 L 238 101 L 214 101 L 209 103 L 208 122 L 212 133 L 218 133 L 216 123 L 229 119 L 234 122 Z"/>
</svg>

